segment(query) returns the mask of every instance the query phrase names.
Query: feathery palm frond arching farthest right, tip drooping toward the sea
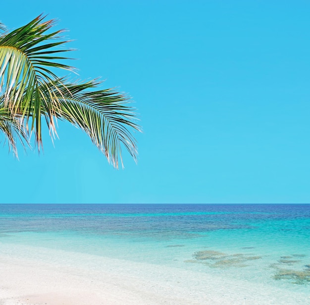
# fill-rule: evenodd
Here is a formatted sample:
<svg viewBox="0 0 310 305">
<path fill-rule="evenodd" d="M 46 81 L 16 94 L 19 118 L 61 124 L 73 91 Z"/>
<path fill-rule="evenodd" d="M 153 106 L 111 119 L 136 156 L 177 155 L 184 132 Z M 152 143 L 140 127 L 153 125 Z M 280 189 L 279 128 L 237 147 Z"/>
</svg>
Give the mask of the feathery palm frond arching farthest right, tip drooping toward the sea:
<svg viewBox="0 0 310 305">
<path fill-rule="evenodd" d="M 59 103 L 56 116 L 84 130 L 107 160 L 118 168 L 122 161 L 121 146 L 137 160 L 137 143 L 130 130 L 140 131 L 133 107 L 127 106 L 128 97 L 113 89 L 93 90 L 99 82 L 59 84 L 54 92 Z M 63 87 L 61 87 L 63 86 Z"/>
</svg>

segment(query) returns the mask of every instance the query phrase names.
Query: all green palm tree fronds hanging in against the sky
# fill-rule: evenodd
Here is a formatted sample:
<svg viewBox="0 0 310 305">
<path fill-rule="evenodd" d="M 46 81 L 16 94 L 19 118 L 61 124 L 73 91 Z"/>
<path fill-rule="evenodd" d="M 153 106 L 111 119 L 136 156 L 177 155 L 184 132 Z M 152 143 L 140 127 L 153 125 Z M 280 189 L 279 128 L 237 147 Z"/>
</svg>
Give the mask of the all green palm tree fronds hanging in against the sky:
<svg viewBox="0 0 310 305">
<path fill-rule="evenodd" d="M 118 168 L 124 146 L 137 160 L 136 140 L 131 131 L 140 131 L 135 109 L 128 97 L 113 89 L 100 89 L 101 82 L 71 81 L 56 75 L 59 69 L 74 71 L 62 63 L 72 49 L 57 49 L 69 42 L 61 40 L 63 30 L 49 31 L 55 20 L 44 21 L 40 15 L 25 26 L 5 31 L 0 23 L 0 130 L 17 155 L 16 144 L 25 147 L 31 133 L 40 151 L 42 119 L 52 138 L 56 120 L 65 120 L 84 130 L 103 152 L 108 162 Z"/>
</svg>

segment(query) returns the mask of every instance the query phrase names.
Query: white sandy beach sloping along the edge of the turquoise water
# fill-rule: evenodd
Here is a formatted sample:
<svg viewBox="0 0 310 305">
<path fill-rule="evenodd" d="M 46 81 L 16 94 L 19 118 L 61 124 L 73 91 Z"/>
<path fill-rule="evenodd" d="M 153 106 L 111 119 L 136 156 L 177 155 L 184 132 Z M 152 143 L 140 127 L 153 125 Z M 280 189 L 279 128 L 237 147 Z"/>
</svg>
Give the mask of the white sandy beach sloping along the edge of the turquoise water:
<svg viewBox="0 0 310 305">
<path fill-rule="evenodd" d="M 309 295 L 207 273 L 56 250 L 42 259 L 47 249 L 39 247 L 28 249 L 36 251 L 29 259 L 11 250 L 0 255 L 0 305 L 310 304 Z"/>
</svg>

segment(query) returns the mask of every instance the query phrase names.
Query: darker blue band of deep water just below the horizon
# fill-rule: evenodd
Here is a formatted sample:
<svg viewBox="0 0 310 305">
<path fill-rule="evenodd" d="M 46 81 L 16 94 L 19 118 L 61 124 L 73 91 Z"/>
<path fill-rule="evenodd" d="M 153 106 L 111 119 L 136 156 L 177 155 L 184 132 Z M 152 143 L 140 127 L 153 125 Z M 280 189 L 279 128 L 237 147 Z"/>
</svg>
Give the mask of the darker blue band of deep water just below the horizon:
<svg viewBox="0 0 310 305">
<path fill-rule="evenodd" d="M 271 228 L 269 228 L 271 227 Z M 1 204 L 0 232 L 89 231 L 160 234 L 173 231 L 310 230 L 309 204 Z"/>
</svg>

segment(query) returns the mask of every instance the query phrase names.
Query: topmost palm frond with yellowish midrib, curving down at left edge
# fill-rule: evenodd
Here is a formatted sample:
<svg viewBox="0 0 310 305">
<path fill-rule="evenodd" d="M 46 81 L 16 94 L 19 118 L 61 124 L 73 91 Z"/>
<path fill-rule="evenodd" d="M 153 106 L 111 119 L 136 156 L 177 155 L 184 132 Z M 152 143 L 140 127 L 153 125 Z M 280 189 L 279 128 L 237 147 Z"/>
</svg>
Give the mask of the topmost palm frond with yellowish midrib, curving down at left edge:
<svg viewBox="0 0 310 305">
<path fill-rule="evenodd" d="M 55 56 L 56 53 L 72 51 L 71 49 L 55 50 L 68 41 L 59 39 L 63 30 L 47 34 L 55 20 L 43 22 L 40 15 L 25 26 L 0 36 L 0 93 L 4 96 L 4 106 L 12 116 L 18 116 L 28 124 L 32 117 L 31 131 L 36 134 L 38 148 L 42 145 L 41 116 L 50 122 L 54 129 L 52 117 L 56 112 L 58 101 L 55 92 L 59 91 L 54 79 L 54 69 L 73 70 L 74 68 L 60 63 L 67 57 Z M 57 82 L 57 84 L 59 81 Z M 60 91 L 59 91 L 60 92 Z M 44 112 L 42 112 L 42 103 Z"/>
</svg>

